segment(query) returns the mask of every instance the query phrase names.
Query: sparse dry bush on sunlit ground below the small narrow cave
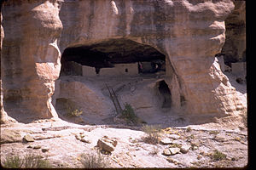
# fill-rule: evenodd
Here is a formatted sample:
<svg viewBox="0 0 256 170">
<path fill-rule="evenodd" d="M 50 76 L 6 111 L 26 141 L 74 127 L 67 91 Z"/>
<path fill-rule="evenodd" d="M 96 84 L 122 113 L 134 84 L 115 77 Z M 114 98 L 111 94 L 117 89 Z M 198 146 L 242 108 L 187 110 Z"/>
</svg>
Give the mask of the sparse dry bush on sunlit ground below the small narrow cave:
<svg viewBox="0 0 256 170">
<path fill-rule="evenodd" d="M 143 132 L 147 133 L 146 137 L 143 137 L 143 141 L 148 144 L 160 143 L 160 126 L 157 125 L 144 125 Z"/>
</svg>

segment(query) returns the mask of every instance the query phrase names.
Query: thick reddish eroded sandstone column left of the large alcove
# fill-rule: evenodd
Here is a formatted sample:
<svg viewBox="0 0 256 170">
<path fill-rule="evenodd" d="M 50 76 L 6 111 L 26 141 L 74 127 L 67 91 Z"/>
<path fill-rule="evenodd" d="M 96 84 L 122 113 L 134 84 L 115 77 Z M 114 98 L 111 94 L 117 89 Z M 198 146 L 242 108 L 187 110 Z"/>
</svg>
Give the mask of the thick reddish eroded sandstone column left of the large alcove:
<svg viewBox="0 0 256 170">
<path fill-rule="evenodd" d="M 3 106 L 15 119 L 57 116 L 50 98 L 61 68 L 59 10 L 58 1 L 3 4 Z"/>
</svg>

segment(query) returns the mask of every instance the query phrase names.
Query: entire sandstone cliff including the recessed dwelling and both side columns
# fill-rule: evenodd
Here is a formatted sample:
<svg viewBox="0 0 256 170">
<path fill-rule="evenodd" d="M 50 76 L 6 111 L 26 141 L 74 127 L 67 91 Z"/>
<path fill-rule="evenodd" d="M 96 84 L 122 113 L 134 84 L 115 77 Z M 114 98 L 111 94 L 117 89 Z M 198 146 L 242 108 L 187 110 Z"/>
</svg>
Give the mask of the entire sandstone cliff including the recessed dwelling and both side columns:
<svg viewBox="0 0 256 170">
<path fill-rule="evenodd" d="M 226 31 L 238 19 L 245 25 L 242 8 L 222 0 L 6 1 L 2 115 L 58 117 L 73 103 L 87 122 L 101 121 L 115 112 L 108 88 L 148 122 L 172 121 L 160 114 L 238 115 L 247 106 L 215 55 L 245 59 L 245 38 Z M 240 39 L 240 48 L 232 45 Z"/>
</svg>

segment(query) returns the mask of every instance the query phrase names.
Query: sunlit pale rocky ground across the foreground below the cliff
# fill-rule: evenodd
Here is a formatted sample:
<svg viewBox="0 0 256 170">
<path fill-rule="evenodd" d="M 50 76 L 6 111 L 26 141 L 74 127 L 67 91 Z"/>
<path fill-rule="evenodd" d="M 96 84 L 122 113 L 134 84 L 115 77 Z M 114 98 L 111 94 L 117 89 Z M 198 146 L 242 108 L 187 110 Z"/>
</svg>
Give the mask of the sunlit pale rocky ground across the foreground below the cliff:
<svg viewBox="0 0 256 170">
<path fill-rule="evenodd" d="M 240 129 L 225 127 L 225 130 L 214 124 L 163 127 L 159 144 L 148 144 L 147 136 L 142 127 L 137 126 L 79 126 L 56 119 L 2 125 L 1 162 L 3 165 L 8 156 L 31 153 L 43 156 L 51 167 L 77 168 L 83 167 L 82 154 L 93 156 L 104 148 L 105 151 L 98 154 L 104 158 L 105 167 L 247 165 L 247 128 L 242 126 Z M 99 139 L 103 143 L 99 143 Z M 99 144 L 106 145 L 98 147 Z"/>
</svg>

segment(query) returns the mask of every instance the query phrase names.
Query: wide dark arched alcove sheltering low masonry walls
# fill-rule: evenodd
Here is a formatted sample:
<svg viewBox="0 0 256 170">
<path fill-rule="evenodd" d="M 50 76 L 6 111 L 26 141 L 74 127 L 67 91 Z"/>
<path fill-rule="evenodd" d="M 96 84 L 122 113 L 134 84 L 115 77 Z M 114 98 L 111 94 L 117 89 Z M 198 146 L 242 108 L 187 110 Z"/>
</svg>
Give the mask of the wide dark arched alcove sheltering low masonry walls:
<svg viewBox="0 0 256 170">
<path fill-rule="evenodd" d="M 61 76 L 135 76 L 166 72 L 166 56 L 157 49 L 128 39 L 66 48 Z"/>
</svg>

